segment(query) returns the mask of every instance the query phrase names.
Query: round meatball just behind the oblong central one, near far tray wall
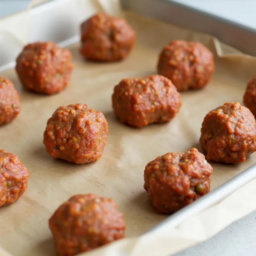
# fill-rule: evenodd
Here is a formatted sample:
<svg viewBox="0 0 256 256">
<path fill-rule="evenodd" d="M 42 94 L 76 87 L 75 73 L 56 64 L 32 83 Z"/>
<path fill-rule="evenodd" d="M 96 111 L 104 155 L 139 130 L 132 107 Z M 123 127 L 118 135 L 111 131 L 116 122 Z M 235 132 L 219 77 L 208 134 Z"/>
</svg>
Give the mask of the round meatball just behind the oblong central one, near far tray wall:
<svg viewBox="0 0 256 256">
<path fill-rule="evenodd" d="M 211 80 L 213 54 L 201 43 L 174 40 L 164 46 L 157 68 L 160 75 L 172 80 L 178 91 L 201 89 Z"/>
</svg>

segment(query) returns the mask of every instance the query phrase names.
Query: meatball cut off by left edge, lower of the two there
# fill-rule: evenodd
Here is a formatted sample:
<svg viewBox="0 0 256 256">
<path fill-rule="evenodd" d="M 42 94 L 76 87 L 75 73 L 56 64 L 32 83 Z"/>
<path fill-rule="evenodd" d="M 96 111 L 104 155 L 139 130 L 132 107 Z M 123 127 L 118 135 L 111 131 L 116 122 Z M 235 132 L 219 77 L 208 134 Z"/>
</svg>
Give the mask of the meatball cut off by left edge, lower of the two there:
<svg viewBox="0 0 256 256">
<path fill-rule="evenodd" d="M 28 177 L 19 157 L 0 149 L 0 206 L 12 204 L 24 194 Z"/>
</svg>

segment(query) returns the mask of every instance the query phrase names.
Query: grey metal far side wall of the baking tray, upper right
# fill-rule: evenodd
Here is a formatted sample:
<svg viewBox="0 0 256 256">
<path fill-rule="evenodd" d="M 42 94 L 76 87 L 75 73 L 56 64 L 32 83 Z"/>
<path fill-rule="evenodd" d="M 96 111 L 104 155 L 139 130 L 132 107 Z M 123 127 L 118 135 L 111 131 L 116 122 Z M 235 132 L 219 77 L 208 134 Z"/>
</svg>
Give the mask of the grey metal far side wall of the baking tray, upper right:
<svg viewBox="0 0 256 256">
<path fill-rule="evenodd" d="M 256 30 L 252 27 L 182 4 L 178 0 L 121 0 L 121 2 L 124 9 L 216 36 L 220 41 L 241 52 L 256 56 Z"/>
</svg>

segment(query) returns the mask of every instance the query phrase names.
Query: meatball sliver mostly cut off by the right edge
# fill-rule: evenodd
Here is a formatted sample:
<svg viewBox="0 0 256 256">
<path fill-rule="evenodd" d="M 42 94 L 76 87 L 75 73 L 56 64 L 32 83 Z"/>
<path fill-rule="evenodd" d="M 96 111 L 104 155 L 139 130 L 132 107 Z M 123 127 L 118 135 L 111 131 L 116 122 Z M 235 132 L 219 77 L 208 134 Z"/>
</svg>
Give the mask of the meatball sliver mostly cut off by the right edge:
<svg viewBox="0 0 256 256">
<path fill-rule="evenodd" d="M 256 76 L 247 85 L 244 93 L 244 105 L 256 116 Z"/>
</svg>

